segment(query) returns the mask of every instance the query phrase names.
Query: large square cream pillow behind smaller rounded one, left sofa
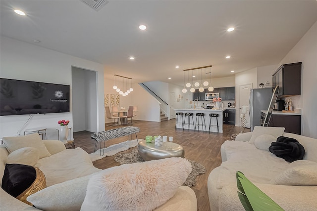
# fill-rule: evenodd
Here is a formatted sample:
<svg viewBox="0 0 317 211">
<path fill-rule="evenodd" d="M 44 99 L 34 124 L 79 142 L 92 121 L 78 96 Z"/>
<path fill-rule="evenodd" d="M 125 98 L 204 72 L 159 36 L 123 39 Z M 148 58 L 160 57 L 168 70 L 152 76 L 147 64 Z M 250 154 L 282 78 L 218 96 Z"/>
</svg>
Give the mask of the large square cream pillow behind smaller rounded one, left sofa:
<svg viewBox="0 0 317 211">
<path fill-rule="evenodd" d="M 2 141 L 9 153 L 24 147 L 34 147 L 39 150 L 39 159 L 51 156 L 38 133 L 3 137 Z"/>
</svg>

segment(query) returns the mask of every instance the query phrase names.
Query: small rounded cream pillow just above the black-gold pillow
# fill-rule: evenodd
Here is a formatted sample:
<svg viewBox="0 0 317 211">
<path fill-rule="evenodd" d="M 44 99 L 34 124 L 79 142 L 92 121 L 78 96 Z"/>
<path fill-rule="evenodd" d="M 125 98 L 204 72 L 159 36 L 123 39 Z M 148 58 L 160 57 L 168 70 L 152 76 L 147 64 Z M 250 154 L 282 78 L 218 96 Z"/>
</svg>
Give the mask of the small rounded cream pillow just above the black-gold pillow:
<svg viewBox="0 0 317 211">
<path fill-rule="evenodd" d="M 39 160 L 39 150 L 34 147 L 23 147 L 10 153 L 6 164 L 23 164 L 34 166 Z"/>
</svg>

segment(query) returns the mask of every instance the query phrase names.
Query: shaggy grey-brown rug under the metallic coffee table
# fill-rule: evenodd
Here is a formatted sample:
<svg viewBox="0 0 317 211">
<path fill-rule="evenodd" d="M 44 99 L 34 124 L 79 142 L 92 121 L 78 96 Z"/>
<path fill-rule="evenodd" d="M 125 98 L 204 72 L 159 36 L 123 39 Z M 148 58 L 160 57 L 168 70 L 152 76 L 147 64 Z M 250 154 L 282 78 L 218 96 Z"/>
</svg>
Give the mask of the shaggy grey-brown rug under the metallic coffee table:
<svg viewBox="0 0 317 211">
<path fill-rule="evenodd" d="M 114 160 L 118 162 L 119 164 L 133 164 L 133 163 L 141 163 L 144 162 L 144 160 L 140 157 L 138 153 L 138 149 L 133 149 L 131 152 L 128 153 L 122 153 L 120 155 L 117 155 L 114 157 Z M 201 165 L 200 163 L 197 163 L 196 161 L 191 161 L 187 159 L 191 165 L 192 165 L 192 172 L 188 175 L 186 181 L 183 185 L 185 186 L 194 186 L 196 185 L 196 177 L 199 174 L 206 173 L 206 168 Z"/>
</svg>

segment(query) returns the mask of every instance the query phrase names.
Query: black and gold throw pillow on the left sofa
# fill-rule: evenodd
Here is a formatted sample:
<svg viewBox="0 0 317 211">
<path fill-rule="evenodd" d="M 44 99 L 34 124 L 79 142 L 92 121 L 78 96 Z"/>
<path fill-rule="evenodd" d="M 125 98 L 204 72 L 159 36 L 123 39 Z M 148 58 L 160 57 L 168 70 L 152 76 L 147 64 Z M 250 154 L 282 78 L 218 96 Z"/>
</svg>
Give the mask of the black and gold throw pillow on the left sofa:
<svg viewBox="0 0 317 211">
<path fill-rule="evenodd" d="M 32 204 L 26 201 L 26 198 L 46 188 L 45 175 L 37 167 L 6 164 L 1 187 L 11 196 L 32 206 Z"/>
</svg>

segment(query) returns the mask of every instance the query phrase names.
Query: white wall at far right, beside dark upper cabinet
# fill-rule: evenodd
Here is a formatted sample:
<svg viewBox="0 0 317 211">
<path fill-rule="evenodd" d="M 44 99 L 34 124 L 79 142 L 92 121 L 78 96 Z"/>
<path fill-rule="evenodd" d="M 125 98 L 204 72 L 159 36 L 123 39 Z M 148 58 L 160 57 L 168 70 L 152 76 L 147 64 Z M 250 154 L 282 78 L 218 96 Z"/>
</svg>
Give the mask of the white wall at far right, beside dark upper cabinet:
<svg viewBox="0 0 317 211">
<path fill-rule="evenodd" d="M 301 134 L 317 138 L 317 22 L 279 65 L 294 62 L 303 62 L 302 94 L 292 97 L 294 106 L 302 108 Z"/>
</svg>

